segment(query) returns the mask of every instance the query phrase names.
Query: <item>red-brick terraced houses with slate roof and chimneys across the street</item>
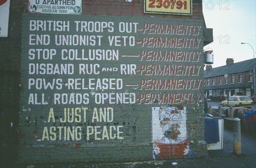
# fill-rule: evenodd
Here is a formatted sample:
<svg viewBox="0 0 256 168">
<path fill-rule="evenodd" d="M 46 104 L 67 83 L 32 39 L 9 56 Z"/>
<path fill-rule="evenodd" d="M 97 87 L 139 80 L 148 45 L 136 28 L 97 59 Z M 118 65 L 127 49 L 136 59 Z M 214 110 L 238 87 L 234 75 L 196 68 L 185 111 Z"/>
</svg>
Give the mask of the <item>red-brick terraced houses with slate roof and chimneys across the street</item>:
<svg viewBox="0 0 256 168">
<path fill-rule="evenodd" d="M 222 101 L 227 97 L 229 88 L 229 96 L 245 95 L 253 99 L 254 63 L 254 59 L 234 63 L 232 58 L 227 58 L 224 66 L 212 68 L 212 65 L 206 65 L 204 88 L 207 97 L 210 100 Z"/>
</svg>

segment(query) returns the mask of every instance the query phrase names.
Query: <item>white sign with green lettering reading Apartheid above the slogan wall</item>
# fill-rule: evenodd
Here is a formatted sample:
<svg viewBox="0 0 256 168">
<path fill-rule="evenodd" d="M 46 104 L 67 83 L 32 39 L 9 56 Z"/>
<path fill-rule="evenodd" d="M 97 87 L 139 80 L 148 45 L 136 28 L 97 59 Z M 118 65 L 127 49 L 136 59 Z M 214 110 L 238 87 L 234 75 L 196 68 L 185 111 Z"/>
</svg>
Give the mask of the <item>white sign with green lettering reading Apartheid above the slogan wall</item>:
<svg viewBox="0 0 256 168">
<path fill-rule="evenodd" d="M 81 0 L 29 0 L 29 13 L 81 14 Z"/>
</svg>

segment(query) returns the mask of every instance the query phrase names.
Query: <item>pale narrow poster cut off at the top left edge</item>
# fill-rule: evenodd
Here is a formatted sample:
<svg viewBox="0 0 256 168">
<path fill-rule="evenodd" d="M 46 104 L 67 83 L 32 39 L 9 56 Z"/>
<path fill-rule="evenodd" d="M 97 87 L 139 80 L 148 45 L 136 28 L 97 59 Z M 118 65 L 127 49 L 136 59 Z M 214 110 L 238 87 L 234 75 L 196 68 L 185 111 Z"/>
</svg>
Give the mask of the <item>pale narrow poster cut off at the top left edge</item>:
<svg viewBox="0 0 256 168">
<path fill-rule="evenodd" d="M 0 1 L 0 37 L 8 36 L 10 0 Z"/>
</svg>

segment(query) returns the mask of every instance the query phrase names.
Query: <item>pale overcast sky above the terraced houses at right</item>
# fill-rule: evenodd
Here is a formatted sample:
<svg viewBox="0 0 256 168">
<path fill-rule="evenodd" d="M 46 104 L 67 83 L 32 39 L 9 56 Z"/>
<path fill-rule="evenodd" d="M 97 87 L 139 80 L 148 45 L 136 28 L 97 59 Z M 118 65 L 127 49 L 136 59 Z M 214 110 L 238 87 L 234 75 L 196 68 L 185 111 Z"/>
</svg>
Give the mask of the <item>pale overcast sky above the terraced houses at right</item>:
<svg viewBox="0 0 256 168">
<path fill-rule="evenodd" d="M 213 50 L 212 68 L 226 65 L 227 58 L 238 63 L 256 57 L 256 0 L 203 0 L 203 13 L 213 29 L 213 42 L 204 46 Z"/>
</svg>

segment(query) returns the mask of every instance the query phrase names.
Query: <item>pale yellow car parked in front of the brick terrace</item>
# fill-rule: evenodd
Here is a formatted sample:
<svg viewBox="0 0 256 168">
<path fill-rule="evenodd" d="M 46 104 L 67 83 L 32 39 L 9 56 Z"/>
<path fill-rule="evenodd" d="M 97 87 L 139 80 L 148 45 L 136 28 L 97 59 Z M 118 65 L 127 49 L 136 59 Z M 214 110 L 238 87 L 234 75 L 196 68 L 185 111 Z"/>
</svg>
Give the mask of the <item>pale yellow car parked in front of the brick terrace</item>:
<svg viewBox="0 0 256 168">
<path fill-rule="evenodd" d="M 221 104 L 227 106 L 227 100 L 222 101 Z M 253 100 L 248 96 L 230 96 L 228 98 L 228 106 L 251 108 L 252 105 Z"/>
</svg>

